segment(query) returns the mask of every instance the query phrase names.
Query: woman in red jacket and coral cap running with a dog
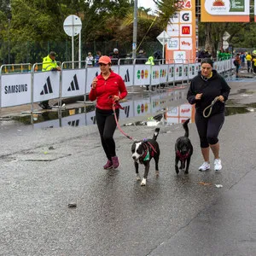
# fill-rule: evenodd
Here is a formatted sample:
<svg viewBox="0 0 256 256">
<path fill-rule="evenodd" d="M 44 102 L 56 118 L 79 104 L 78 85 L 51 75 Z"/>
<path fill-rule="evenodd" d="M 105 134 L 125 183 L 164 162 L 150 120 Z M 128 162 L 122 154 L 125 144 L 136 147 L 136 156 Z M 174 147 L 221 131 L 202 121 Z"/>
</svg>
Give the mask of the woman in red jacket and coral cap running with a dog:
<svg viewBox="0 0 256 256">
<path fill-rule="evenodd" d="M 111 59 L 103 55 L 98 62 L 101 74 L 93 79 L 89 94 L 90 101 L 96 100 L 96 123 L 100 131 L 102 147 L 107 155 L 108 161 L 104 169 L 118 168 L 119 159 L 115 152 L 113 132 L 116 129 L 116 122 L 113 115 L 113 101 L 127 96 L 124 80 L 117 73 L 111 70 Z M 119 119 L 119 108 L 115 109 Z"/>
</svg>

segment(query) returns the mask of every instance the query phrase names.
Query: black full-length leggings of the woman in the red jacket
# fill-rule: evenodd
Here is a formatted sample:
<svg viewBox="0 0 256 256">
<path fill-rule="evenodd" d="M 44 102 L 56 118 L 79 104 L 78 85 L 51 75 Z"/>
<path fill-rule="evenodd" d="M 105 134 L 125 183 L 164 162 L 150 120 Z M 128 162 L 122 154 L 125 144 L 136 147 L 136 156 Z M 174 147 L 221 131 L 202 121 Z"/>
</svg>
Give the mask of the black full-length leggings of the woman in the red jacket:
<svg viewBox="0 0 256 256">
<path fill-rule="evenodd" d="M 119 119 L 119 108 L 115 110 L 117 119 Z M 113 133 L 116 128 L 116 122 L 113 115 L 113 110 L 102 110 L 96 108 L 96 123 L 100 131 L 102 147 L 108 160 L 111 160 L 115 154 L 115 143 Z"/>
</svg>

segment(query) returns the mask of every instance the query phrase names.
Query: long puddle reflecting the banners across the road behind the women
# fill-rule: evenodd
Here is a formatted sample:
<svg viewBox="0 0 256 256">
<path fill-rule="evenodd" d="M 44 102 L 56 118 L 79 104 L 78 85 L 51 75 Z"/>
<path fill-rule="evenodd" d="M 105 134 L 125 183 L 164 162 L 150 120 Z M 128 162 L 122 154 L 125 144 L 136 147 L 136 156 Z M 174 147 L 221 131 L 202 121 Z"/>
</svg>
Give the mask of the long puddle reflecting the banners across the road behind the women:
<svg viewBox="0 0 256 256">
<path fill-rule="evenodd" d="M 239 90 L 240 94 L 250 94 L 246 89 Z M 143 91 L 129 94 L 127 101 L 121 102 L 124 110 L 120 110 L 120 121 L 125 125 L 175 125 L 185 119 L 195 122 L 195 107 L 187 103 L 187 87 L 173 87 L 167 90 Z M 226 104 L 225 115 L 249 113 L 256 111 L 256 102 L 239 105 L 229 100 Z M 88 105 L 72 109 L 52 109 L 40 114 L 27 114 L 12 117 L 13 120 L 35 128 L 47 129 L 63 126 L 78 127 L 95 125 L 95 106 Z M 127 122 L 126 120 L 127 119 Z"/>
</svg>

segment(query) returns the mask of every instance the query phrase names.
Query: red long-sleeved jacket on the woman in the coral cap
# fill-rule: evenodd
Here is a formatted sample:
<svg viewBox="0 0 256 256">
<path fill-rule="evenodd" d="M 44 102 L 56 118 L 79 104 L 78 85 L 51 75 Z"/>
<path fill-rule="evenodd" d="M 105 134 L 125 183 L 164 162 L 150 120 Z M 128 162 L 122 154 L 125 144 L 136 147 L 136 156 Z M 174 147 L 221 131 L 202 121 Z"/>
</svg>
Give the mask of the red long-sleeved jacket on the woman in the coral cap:
<svg viewBox="0 0 256 256">
<path fill-rule="evenodd" d="M 117 73 L 111 71 L 108 79 L 104 79 L 102 74 L 99 74 L 96 88 L 90 90 L 89 100 L 96 101 L 96 108 L 112 109 L 113 100 L 109 96 L 119 96 L 119 99 L 127 96 L 127 90 L 124 80 Z"/>
</svg>

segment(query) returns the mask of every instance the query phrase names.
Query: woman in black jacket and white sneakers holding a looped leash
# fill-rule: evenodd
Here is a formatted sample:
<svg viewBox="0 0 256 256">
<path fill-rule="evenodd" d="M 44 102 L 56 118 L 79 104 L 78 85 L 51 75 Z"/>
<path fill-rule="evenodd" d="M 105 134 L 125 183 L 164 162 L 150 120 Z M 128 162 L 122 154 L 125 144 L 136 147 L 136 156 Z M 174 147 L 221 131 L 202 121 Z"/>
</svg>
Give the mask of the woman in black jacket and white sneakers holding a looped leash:
<svg viewBox="0 0 256 256">
<path fill-rule="evenodd" d="M 204 158 L 204 163 L 199 167 L 200 171 L 210 169 L 210 148 L 214 154 L 214 170 L 222 169 L 219 159 L 218 133 L 224 124 L 224 102 L 230 94 L 230 86 L 216 70 L 212 69 L 212 65 L 212 59 L 201 61 L 201 72 L 191 80 L 187 95 L 189 103 L 195 104 L 195 125 L 200 137 L 201 154 Z M 204 114 L 204 109 L 211 105 L 214 99 L 217 102 L 212 106 L 210 115 L 207 116 L 209 112 Z"/>
</svg>

